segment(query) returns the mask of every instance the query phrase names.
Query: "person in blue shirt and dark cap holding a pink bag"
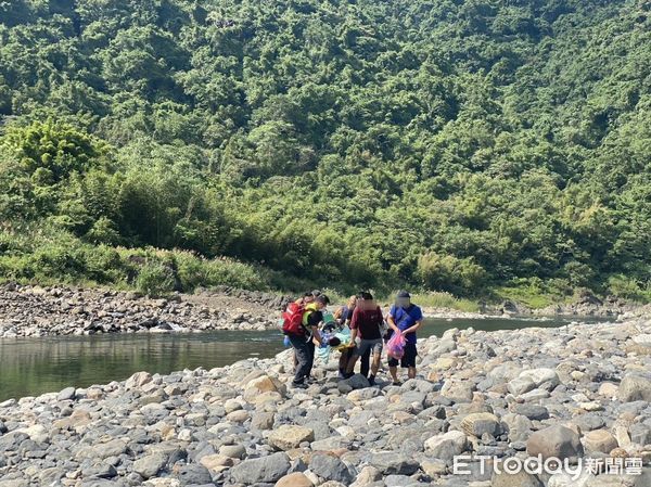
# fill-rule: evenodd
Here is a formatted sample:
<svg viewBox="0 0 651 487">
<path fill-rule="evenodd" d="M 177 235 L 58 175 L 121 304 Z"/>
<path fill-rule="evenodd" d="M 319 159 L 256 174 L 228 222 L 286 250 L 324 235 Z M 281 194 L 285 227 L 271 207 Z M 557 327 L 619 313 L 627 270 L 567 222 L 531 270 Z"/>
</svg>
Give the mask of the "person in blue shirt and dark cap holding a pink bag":
<svg viewBox="0 0 651 487">
<path fill-rule="evenodd" d="M 423 322 L 423 312 L 411 303 L 411 295 L 407 291 L 398 292 L 396 303 L 388 311 L 387 323 L 390 326 L 390 337 L 393 333 L 403 333 L 405 335 L 405 355 L 400 359 L 400 367 L 408 369 L 409 379 L 416 379 L 416 331 Z M 398 385 L 398 360 L 390 357 L 388 372 L 395 385 Z"/>
</svg>

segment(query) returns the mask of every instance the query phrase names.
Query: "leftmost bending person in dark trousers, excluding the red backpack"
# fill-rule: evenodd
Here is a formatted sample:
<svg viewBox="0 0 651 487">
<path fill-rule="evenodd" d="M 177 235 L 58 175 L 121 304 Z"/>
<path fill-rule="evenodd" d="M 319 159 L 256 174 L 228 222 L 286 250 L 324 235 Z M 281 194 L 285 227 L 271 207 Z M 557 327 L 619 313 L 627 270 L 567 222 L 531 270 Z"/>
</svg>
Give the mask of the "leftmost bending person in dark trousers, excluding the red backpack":
<svg viewBox="0 0 651 487">
<path fill-rule="evenodd" d="M 292 382 L 294 387 L 307 387 L 305 381 L 309 379 L 315 363 L 315 345 L 321 345 L 319 324 L 323 321 L 323 309 L 326 309 L 329 303 L 330 299 L 324 294 L 315 297 L 315 300 L 305 307 L 305 312 L 303 313 L 303 329 L 305 333 L 290 336 L 297 361 L 294 381 Z"/>
</svg>

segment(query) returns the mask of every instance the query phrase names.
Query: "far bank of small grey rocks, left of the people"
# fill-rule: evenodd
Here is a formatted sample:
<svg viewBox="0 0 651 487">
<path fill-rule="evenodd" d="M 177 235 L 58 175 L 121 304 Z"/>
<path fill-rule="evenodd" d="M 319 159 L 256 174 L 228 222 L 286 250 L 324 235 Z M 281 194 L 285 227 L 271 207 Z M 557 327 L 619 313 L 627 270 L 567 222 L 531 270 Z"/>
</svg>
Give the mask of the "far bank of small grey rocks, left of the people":
<svg viewBox="0 0 651 487">
<path fill-rule="evenodd" d="M 241 293 L 151 299 L 133 292 L 5 284 L 0 286 L 0 337 L 267 330 L 278 325 L 281 297 Z"/>
</svg>

